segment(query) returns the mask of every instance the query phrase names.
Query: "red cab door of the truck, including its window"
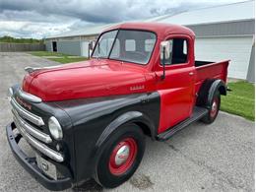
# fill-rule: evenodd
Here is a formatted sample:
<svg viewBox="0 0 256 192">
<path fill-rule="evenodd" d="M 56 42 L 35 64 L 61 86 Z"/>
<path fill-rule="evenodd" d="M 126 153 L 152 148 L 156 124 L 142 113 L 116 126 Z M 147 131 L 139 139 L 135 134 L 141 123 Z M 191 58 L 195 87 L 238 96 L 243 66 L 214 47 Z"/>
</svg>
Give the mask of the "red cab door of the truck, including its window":
<svg viewBox="0 0 256 192">
<path fill-rule="evenodd" d="M 167 38 L 170 57 L 165 62 L 165 78 L 158 84 L 160 93 L 159 133 L 188 118 L 194 103 L 195 67 L 193 40 L 187 37 Z M 162 61 L 160 71 L 162 74 Z"/>
</svg>

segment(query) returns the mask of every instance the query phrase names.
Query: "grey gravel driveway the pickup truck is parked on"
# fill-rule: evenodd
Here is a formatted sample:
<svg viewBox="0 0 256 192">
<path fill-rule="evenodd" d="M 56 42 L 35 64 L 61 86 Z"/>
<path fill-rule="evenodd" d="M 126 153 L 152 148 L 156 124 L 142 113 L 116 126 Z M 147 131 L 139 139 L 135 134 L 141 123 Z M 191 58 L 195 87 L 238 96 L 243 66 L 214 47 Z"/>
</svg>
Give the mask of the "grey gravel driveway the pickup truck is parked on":
<svg viewBox="0 0 256 192">
<path fill-rule="evenodd" d="M 0 191 L 47 191 L 12 156 L 5 135 L 12 119 L 7 89 L 21 83 L 24 67 L 56 64 L 26 53 L 0 52 Z M 89 181 L 76 190 L 102 189 Z M 135 175 L 103 191 L 254 191 L 254 123 L 221 112 L 215 123 L 195 123 L 167 142 L 148 140 Z"/>
</svg>

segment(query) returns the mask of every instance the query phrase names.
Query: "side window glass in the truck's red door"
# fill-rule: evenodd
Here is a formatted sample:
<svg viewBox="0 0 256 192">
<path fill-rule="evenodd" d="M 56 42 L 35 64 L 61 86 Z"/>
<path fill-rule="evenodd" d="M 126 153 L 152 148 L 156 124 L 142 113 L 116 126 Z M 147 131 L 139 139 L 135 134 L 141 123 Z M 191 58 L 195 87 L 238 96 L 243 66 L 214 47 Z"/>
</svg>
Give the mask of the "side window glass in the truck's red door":
<svg viewBox="0 0 256 192">
<path fill-rule="evenodd" d="M 185 38 L 169 39 L 170 57 L 165 61 L 166 65 L 186 63 L 188 60 L 188 41 Z M 162 61 L 160 61 L 162 64 Z"/>
</svg>

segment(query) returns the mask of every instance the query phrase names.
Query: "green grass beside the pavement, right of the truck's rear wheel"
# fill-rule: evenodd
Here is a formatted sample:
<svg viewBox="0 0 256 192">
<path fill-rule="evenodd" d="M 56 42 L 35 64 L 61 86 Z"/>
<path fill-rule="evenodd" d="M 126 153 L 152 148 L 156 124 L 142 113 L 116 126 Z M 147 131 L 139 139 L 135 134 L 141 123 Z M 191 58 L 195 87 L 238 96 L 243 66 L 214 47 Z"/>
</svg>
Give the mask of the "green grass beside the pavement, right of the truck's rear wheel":
<svg viewBox="0 0 256 192">
<path fill-rule="evenodd" d="M 240 81 L 229 83 L 228 88 L 231 92 L 227 92 L 227 96 L 222 96 L 221 110 L 254 121 L 254 85 Z"/>
</svg>

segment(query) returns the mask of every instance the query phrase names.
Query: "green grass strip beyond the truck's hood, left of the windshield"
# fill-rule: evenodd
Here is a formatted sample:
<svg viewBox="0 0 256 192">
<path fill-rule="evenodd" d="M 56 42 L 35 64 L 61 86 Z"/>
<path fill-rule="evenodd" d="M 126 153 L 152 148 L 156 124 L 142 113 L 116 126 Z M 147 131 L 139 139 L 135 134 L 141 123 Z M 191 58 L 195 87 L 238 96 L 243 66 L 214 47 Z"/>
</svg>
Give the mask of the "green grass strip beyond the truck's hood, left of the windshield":
<svg viewBox="0 0 256 192">
<path fill-rule="evenodd" d="M 59 63 L 74 63 L 74 62 L 87 60 L 87 57 L 81 57 L 81 56 L 73 57 L 74 55 L 64 54 L 60 52 L 32 51 L 29 53 L 34 56 L 44 57 L 46 59 L 56 61 Z"/>
</svg>

